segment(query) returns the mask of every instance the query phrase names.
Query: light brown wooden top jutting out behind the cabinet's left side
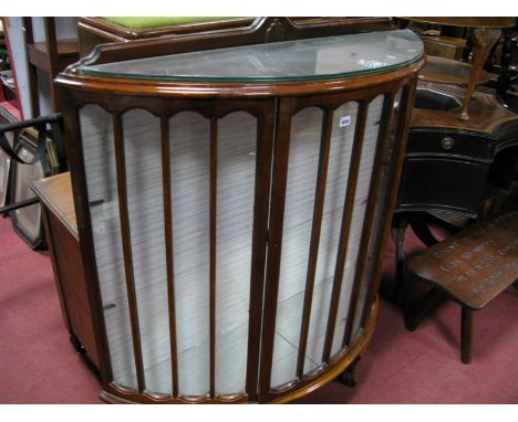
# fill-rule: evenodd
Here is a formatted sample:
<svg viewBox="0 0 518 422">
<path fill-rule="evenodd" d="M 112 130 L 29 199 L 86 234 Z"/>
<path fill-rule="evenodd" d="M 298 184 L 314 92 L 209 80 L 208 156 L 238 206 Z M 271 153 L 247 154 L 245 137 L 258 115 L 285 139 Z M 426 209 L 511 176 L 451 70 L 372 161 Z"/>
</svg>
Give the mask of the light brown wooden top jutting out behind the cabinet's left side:
<svg viewBox="0 0 518 422">
<path fill-rule="evenodd" d="M 33 181 L 32 189 L 41 202 L 79 240 L 70 172 Z"/>
</svg>

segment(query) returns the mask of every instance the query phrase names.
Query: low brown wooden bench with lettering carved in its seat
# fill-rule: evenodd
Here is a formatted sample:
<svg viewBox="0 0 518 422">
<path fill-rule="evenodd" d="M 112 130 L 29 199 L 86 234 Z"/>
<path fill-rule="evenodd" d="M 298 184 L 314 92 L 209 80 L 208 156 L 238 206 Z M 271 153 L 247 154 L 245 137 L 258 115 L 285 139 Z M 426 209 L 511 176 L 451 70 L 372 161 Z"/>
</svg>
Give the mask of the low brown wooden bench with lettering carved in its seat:
<svg viewBox="0 0 518 422">
<path fill-rule="evenodd" d="M 473 310 L 518 279 L 518 211 L 469 225 L 412 256 L 407 270 L 462 305 L 460 358 L 469 363 Z"/>
</svg>

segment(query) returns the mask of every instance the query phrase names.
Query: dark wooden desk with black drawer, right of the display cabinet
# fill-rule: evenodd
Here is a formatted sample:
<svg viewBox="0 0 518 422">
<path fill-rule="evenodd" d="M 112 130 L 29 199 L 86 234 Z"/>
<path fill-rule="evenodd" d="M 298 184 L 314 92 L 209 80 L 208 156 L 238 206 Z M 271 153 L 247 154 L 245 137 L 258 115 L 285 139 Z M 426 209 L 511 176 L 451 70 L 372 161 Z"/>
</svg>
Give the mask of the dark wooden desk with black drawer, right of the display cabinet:
<svg viewBox="0 0 518 422">
<path fill-rule="evenodd" d="M 441 109 L 429 93 L 454 106 L 464 95 L 462 88 L 434 83 L 417 88 L 417 97 L 426 96 L 428 104 L 413 112 L 397 210 L 476 218 L 485 202 L 511 189 L 518 117 L 493 95 L 476 93 L 468 109 L 472 118 L 464 122 Z"/>
</svg>

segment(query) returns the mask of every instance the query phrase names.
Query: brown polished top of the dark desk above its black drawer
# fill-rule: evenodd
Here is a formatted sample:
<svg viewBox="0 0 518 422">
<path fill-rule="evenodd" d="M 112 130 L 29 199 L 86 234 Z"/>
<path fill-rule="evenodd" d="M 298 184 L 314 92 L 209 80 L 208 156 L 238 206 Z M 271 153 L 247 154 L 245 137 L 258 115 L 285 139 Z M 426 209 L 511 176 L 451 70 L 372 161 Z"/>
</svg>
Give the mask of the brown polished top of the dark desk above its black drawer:
<svg viewBox="0 0 518 422">
<path fill-rule="evenodd" d="M 454 85 L 441 85 L 434 83 L 419 83 L 418 89 L 431 89 L 463 98 L 465 89 Z M 458 129 L 466 131 L 481 131 L 491 134 L 503 123 L 516 120 L 518 116 L 503 107 L 494 95 L 476 92 L 469 104 L 469 120 L 458 118 L 458 109 L 434 110 L 414 108 L 411 120 L 411 129 L 437 128 Z"/>
</svg>

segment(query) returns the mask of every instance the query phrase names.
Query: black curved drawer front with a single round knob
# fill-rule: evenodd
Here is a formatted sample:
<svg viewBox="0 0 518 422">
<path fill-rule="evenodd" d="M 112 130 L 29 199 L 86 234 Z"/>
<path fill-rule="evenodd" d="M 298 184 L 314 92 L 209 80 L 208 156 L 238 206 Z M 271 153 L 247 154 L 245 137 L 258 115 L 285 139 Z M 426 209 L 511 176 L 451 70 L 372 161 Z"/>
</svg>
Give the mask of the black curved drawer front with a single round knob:
<svg viewBox="0 0 518 422">
<path fill-rule="evenodd" d="M 408 134 L 406 155 L 432 154 L 491 160 L 496 140 L 480 134 L 414 129 Z"/>
</svg>

